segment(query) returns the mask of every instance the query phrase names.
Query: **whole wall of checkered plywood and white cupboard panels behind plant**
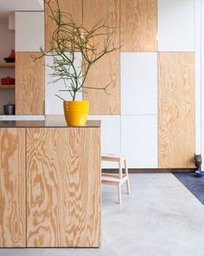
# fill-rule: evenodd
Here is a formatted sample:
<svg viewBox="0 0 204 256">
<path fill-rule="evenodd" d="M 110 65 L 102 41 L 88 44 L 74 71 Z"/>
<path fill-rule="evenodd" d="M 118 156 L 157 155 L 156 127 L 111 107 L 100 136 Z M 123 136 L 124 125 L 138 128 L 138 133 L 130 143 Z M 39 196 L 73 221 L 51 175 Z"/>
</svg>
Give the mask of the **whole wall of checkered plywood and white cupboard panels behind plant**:
<svg viewBox="0 0 204 256">
<path fill-rule="evenodd" d="M 54 2 L 51 1 L 53 6 Z M 118 27 L 113 41 L 120 49 L 97 63 L 86 81 L 87 85 L 96 87 L 111 82 L 109 94 L 89 90 L 79 95 L 79 100 L 90 101 L 89 118 L 103 120 L 102 151 L 126 154 L 132 168 L 194 167 L 194 91 L 197 86 L 194 81 L 197 72 L 194 69 L 194 0 L 61 0 L 60 3 L 77 23 L 88 28 L 105 16 L 109 25 Z M 32 20 L 35 15 L 44 14 L 33 15 L 29 20 L 26 13 L 18 13 L 16 35 L 30 33 L 21 29 L 22 19 L 31 27 L 40 26 Z M 28 59 L 29 53 L 37 56 L 39 45 L 44 45 L 43 36 L 48 49 L 54 30 L 48 15 L 45 8 L 43 28 L 27 36 L 32 42 L 16 39 L 16 62 L 23 63 L 16 67 L 17 114 L 63 115 L 61 102 L 53 95 L 64 85 L 48 83 L 50 70 L 43 67 L 44 62 L 52 60 L 46 57 L 31 64 Z M 81 56 L 78 61 L 80 65 Z M 40 76 L 36 78 L 35 74 Z M 37 106 L 35 98 L 39 102 Z"/>
</svg>

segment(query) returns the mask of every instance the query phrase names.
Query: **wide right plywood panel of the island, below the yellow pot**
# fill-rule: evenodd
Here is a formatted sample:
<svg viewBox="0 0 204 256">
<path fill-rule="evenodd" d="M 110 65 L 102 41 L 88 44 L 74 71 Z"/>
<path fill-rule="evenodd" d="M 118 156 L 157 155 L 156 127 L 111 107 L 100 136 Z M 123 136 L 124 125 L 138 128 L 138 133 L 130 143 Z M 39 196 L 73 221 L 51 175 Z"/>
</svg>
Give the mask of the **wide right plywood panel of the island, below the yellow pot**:
<svg viewBox="0 0 204 256">
<path fill-rule="evenodd" d="M 99 246 L 99 128 L 28 128 L 28 246 Z"/>
</svg>

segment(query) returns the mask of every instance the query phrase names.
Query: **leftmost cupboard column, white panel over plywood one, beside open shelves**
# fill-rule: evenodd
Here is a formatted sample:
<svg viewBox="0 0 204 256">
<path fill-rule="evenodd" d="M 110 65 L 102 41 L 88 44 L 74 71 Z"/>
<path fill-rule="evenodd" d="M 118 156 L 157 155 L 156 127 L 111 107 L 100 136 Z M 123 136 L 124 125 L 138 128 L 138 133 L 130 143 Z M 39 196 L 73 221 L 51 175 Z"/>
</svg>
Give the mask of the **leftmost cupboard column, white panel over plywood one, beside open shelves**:
<svg viewBox="0 0 204 256">
<path fill-rule="evenodd" d="M 44 12 L 16 12 L 16 115 L 44 115 Z"/>
</svg>

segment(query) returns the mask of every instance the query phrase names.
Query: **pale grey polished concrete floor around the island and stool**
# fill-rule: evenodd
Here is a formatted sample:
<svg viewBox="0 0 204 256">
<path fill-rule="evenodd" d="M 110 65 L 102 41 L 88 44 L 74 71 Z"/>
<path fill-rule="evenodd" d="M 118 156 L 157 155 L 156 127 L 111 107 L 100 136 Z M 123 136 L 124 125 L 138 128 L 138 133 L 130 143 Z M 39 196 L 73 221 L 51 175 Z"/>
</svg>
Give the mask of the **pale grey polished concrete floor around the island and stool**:
<svg viewBox="0 0 204 256">
<path fill-rule="evenodd" d="M 103 187 L 99 249 L 0 249 L 1 256 L 203 256 L 204 206 L 173 174 L 131 174 L 131 195 Z"/>
</svg>

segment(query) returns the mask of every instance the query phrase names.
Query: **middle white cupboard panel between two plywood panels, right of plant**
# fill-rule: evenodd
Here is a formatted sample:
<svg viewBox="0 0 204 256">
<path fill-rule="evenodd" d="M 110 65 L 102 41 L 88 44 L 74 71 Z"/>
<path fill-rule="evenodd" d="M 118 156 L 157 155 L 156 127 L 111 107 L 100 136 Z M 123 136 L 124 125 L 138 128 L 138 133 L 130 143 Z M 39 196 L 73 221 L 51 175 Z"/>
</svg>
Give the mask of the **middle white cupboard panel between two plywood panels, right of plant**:
<svg viewBox="0 0 204 256">
<path fill-rule="evenodd" d="M 122 115 L 156 115 L 157 54 L 121 54 Z"/>
</svg>

